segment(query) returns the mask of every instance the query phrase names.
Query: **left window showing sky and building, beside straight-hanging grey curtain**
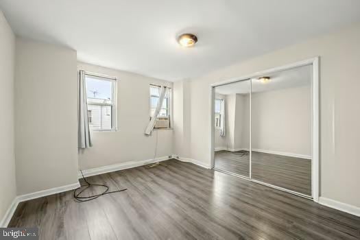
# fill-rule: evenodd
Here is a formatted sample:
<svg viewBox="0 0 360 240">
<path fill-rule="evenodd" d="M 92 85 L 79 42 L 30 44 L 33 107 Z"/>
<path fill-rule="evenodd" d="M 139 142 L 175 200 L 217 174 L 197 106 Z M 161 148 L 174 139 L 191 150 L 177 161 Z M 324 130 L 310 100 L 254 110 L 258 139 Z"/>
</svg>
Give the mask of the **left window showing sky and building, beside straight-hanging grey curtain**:
<svg viewBox="0 0 360 240">
<path fill-rule="evenodd" d="M 115 77 L 85 74 L 88 123 L 95 131 L 117 129 L 117 81 Z"/>
</svg>

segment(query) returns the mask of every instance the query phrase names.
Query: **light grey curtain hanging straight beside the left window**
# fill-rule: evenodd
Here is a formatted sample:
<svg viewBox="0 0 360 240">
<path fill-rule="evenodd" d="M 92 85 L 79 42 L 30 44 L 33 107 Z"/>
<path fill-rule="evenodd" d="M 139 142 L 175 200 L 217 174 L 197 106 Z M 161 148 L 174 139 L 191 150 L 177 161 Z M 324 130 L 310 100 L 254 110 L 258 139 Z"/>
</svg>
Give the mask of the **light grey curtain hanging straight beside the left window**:
<svg viewBox="0 0 360 240">
<path fill-rule="evenodd" d="M 86 96 L 86 81 L 84 71 L 79 73 L 79 124 L 78 124 L 78 145 L 79 148 L 92 146 L 90 129 L 88 127 L 88 101 Z"/>
</svg>

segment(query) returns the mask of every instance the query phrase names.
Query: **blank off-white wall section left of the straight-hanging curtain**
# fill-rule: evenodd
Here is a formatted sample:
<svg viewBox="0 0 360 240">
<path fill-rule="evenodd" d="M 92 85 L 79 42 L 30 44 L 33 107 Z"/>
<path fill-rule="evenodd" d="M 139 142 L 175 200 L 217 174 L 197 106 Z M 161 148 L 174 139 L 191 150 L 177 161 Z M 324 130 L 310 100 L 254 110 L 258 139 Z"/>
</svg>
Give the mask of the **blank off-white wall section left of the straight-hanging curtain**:
<svg viewBox="0 0 360 240">
<path fill-rule="evenodd" d="M 16 38 L 17 193 L 77 182 L 77 75 L 72 49 Z"/>
</svg>

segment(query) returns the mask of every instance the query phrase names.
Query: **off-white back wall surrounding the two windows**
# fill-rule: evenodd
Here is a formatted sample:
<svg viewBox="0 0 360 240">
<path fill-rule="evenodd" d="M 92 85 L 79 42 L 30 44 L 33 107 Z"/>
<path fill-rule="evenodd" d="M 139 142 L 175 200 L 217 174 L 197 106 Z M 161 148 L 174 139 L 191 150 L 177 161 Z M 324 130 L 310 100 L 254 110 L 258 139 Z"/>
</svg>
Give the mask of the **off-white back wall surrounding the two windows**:
<svg viewBox="0 0 360 240">
<path fill-rule="evenodd" d="M 117 132 L 93 132 L 93 147 L 79 152 L 79 168 L 91 169 L 128 161 L 154 158 L 173 154 L 173 130 L 155 130 L 145 136 L 149 122 L 149 84 L 172 86 L 171 82 L 156 80 L 135 73 L 107 69 L 79 62 L 78 69 L 117 77 Z M 178 95 L 176 95 L 178 97 Z"/>
</svg>

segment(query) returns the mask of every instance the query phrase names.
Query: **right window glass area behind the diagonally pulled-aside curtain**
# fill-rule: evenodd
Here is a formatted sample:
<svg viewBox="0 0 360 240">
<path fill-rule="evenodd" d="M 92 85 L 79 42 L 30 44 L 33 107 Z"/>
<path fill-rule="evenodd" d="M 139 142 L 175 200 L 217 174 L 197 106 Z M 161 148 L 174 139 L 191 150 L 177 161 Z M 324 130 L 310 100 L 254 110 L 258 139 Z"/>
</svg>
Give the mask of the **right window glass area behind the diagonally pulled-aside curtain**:
<svg viewBox="0 0 360 240">
<path fill-rule="evenodd" d="M 150 85 L 150 118 L 154 115 L 156 106 L 160 99 L 160 87 Z M 163 105 L 158 113 L 155 128 L 170 128 L 170 106 L 171 106 L 171 94 L 165 96 Z"/>
</svg>

